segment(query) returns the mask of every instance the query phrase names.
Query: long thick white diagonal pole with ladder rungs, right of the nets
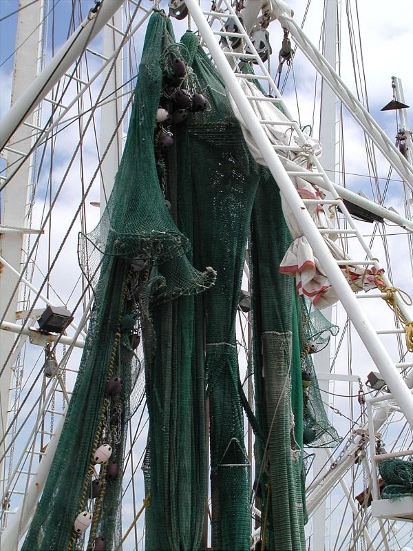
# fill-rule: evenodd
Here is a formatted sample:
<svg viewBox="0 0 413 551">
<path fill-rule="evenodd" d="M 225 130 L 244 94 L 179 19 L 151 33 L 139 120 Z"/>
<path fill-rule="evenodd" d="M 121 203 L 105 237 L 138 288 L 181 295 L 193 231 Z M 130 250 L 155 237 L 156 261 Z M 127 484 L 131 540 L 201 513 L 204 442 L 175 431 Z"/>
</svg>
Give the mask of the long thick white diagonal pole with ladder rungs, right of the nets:
<svg viewBox="0 0 413 551">
<path fill-rule="evenodd" d="M 394 397 L 401 407 L 407 422 L 413 428 L 413 396 L 410 394 L 409 389 L 397 371 L 390 355 L 388 355 L 388 352 L 379 340 L 379 337 L 374 332 L 372 324 L 370 324 L 370 321 L 366 315 L 364 315 L 363 311 L 361 311 L 361 308 L 357 303 L 357 298 L 350 289 L 348 282 L 335 263 L 335 260 L 332 258 L 326 242 L 324 242 L 324 239 L 320 235 L 317 227 L 315 227 L 313 219 L 308 213 L 304 202 L 302 202 L 301 198 L 299 198 L 297 190 L 282 166 L 277 154 L 275 154 L 273 146 L 268 140 L 262 125 L 255 116 L 253 108 L 240 87 L 237 77 L 233 74 L 229 63 L 226 60 L 226 56 L 222 52 L 218 42 L 215 40 L 213 31 L 211 30 L 207 19 L 205 19 L 200 6 L 198 6 L 198 3 L 195 0 L 186 0 L 186 4 L 189 12 L 191 13 L 191 17 L 193 17 L 195 24 L 198 26 L 198 29 L 202 34 L 202 38 L 213 56 L 218 71 L 224 79 L 227 90 L 231 96 L 233 96 L 233 99 L 237 104 L 246 125 L 248 126 L 248 130 L 251 132 L 257 147 L 259 147 L 260 152 L 262 153 L 266 165 L 271 170 L 271 174 L 273 174 L 280 191 L 288 202 L 288 206 L 293 211 L 295 218 L 299 222 L 301 230 L 305 233 L 310 246 L 313 248 L 313 251 L 315 251 L 315 256 L 317 256 L 321 266 L 326 271 L 326 275 L 330 280 L 332 287 L 335 291 L 337 291 L 341 303 L 350 316 L 350 320 L 359 333 L 361 340 L 365 344 L 374 364 L 376 364 L 379 372 L 383 376 L 383 379 L 388 383 L 390 391 L 394 394 Z M 403 160 L 405 159 L 403 158 Z"/>
</svg>

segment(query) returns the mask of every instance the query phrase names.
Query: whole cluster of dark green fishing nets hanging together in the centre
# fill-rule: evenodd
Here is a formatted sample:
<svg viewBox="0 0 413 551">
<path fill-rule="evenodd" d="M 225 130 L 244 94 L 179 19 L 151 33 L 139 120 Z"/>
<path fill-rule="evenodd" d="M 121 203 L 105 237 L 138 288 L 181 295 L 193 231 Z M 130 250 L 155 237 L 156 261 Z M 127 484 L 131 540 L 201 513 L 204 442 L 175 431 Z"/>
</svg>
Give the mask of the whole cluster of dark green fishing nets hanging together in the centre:
<svg viewBox="0 0 413 551">
<path fill-rule="evenodd" d="M 154 129 L 171 52 L 184 59 L 191 87 L 207 97 L 209 109 L 173 126 L 174 143 L 161 159 L 166 173 L 160 180 Z M 150 494 L 145 548 L 200 548 L 207 503 L 207 400 L 213 549 L 250 548 L 251 466 L 235 332 L 250 232 L 257 404 L 255 415 L 251 410 L 248 415 L 257 435 L 255 488 L 262 514 L 268 513 L 266 548 L 296 551 L 304 549 L 306 518 L 304 337 L 293 282 L 278 272 L 291 240 L 279 191 L 268 170 L 251 158 L 198 37 L 187 32 L 174 43 L 171 23 L 155 12 L 114 191 L 98 227 L 79 240 L 96 301 L 24 551 L 80 547 L 73 524 L 83 510 L 93 514 L 88 547 L 99 536 L 107 548 L 121 548 L 126 427 L 142 400 L 143 377 L 149 430 L 142 470 Z M 131 346 L 140 334 L 142 342 Z M 122 379 L 122 391 L 112 397 L 105 393 L 111 377 Z M 110 464 L 96 468 L 103 490 L 89 499 L 92 452 L 103 442 L 112 444 L 110 461 L 118 465 L 118 476 L 108 478 Z"/>
</svg>

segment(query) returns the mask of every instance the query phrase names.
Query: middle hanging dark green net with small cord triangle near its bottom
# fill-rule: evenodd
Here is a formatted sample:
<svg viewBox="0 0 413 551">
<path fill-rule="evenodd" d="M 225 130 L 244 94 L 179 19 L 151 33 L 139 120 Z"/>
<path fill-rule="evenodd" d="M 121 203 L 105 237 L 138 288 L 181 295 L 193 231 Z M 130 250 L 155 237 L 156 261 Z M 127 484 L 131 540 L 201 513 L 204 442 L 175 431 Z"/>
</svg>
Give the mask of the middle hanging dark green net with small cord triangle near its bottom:
<svg viewBox="0 0 413 551">
<path fill-rule="evenodd" d="M 224 85 L 198 38 L 182 38 L 210 109 L 176 129 L 175 165 L 180 229 L 193 243 L 194 266 L 213 266 L 217 279 L 204 295 L 211 435 L 214 550 L 248 550 L 251 520 L 248 461 L 238 394 L 235 318 L 248 223 L 260 168 L 251 159 Z M 171 152 L 173 156 L 173 152 Z M 170 156 L 170 157 L 171 157 Z"/>
</svg>

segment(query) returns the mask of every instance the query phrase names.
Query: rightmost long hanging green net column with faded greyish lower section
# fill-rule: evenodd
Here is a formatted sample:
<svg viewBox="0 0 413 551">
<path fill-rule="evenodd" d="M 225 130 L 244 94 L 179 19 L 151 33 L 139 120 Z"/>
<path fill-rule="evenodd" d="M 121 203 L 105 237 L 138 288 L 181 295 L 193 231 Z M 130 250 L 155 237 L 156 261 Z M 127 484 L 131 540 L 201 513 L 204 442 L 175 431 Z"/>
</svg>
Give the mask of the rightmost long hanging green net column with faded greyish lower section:
<svg viewBox="0 0 413 551">
<path fill-rule="evenodd" d="M 293 282 L 278 270 L 290 242 L 279 190 L 264 170 L 251 223 L 255 412 L 265 435 L 255 443 L 254 486 L 268 519 L 266 549 L 276 551 L 305 545 L 300 313 Z"/>
</svg>

